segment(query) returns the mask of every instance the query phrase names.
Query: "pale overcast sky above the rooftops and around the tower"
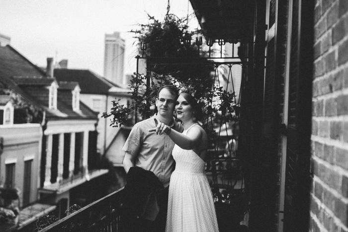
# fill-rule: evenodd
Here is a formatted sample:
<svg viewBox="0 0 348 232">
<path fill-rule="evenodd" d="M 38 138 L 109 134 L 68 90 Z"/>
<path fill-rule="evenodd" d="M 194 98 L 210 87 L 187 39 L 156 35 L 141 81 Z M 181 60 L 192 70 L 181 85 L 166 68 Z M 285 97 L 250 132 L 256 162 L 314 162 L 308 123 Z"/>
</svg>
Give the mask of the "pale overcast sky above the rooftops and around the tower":
<svg viewBox="0 0 348 232">
<path fill-rule="evenodd" d="M 170 0 L 179 17 L 193 13 L 189 0 Z M 46 67 L 47 57 L 68 60 L 70 69 L 103 76 L 104 36 L 121 32 L 126 40 L 125 74 L 136 71 L 134 33 L 147 14 L 162 21 L 168 0 L 0 0 L 0 34 L 32 63 Z M 196 21 L 194 18 L 193 20 Z M 190 23 L 197 27 L 198 23 Z"/>
</svg>

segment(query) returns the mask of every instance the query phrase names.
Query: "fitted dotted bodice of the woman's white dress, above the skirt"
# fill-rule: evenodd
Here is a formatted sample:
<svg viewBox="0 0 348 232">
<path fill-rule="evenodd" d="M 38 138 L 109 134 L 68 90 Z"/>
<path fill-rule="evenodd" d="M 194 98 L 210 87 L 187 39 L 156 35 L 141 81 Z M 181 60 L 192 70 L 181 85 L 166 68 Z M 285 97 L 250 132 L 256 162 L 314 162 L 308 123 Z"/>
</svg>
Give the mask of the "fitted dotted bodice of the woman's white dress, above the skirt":
<svg viewBox="0 0 348 232">
<path fill-rule="evenodd" d="M 184 130 L 182 134 L 186 135 L 187 131 L 195 124 Z M 173 157 L 176 162 L 175 171 L 180 173 L 204 174 L 205 162 L 193 150 L 184 150 L 175 145 Z"/>
</svg>

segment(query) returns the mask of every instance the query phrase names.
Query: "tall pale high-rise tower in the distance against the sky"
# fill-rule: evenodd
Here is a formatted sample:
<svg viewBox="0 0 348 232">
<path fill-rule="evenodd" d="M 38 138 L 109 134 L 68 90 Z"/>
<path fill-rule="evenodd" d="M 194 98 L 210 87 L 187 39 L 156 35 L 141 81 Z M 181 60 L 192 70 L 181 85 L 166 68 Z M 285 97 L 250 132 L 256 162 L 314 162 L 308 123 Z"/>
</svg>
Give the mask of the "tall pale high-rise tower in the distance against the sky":
<svg viewBox="0 0 348 232">
<path fill-rule="evenodd" d="M 105 34 L 104 77 L 108 80 L 125 85 L 124 69 L 125 40 L 119 32 Z"/>
</svg>

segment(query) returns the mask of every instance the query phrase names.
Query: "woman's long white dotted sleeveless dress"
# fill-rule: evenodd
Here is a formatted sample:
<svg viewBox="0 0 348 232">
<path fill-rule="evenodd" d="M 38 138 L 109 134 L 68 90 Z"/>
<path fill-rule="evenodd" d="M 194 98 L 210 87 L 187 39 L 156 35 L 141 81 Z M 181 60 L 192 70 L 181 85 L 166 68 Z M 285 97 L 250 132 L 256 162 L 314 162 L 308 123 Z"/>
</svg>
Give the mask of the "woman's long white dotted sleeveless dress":
<svg viewBox="0 0 348 232">
<path fill-rule="evenodd" d="M 166 232 L 218 232 L 205 162 L 193 150 L 177 145 L 173 157 L 176 165 L 169 185 Z"/>
</svg>

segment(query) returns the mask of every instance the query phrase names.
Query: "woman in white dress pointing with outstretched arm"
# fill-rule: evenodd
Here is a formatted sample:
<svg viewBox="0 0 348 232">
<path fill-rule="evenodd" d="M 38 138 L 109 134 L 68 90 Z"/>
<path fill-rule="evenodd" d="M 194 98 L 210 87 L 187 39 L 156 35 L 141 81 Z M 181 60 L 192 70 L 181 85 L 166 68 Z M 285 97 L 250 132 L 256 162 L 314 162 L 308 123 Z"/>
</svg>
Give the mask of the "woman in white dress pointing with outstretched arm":
<svg viewBox="0 0 348 232">
<path fill-rule="evenodd" d="M 182 133 L 159 123 L 149 131 L 163 133 L 175 143 L 175 170 L 169 185 L 166 232 L 218 232 L 213 195 L 205 175 L 208 136 L 197 123 L 202 112 L 189 93 L 181 92 L 175 112 L 182 121 Z"/>
</svg>

